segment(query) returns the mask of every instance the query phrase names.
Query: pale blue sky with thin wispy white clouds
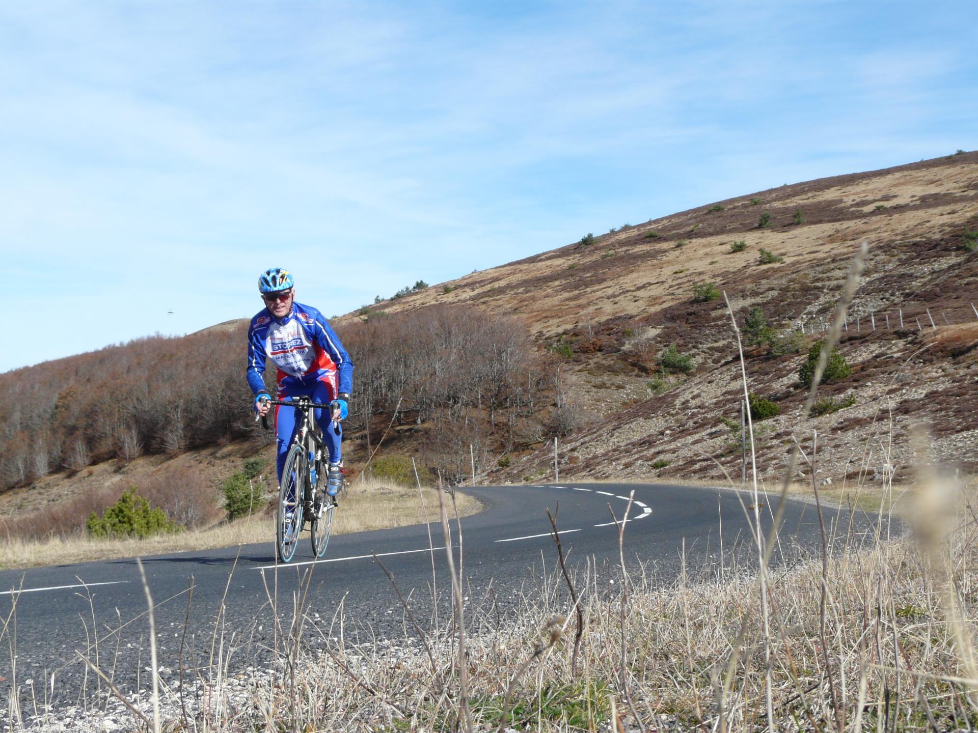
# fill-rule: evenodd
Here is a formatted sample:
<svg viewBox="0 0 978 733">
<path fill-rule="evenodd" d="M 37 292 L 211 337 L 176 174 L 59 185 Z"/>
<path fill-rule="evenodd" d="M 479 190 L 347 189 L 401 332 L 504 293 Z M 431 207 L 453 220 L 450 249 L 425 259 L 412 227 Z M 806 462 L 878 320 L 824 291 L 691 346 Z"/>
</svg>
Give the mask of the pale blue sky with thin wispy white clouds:
<svg viewBox="0 0 978 733">
<path fill-rule="evenodd" d="M 974 150 L 976 48 L 974 0 L 2 3 L 0 371 Z"/>
</svg>

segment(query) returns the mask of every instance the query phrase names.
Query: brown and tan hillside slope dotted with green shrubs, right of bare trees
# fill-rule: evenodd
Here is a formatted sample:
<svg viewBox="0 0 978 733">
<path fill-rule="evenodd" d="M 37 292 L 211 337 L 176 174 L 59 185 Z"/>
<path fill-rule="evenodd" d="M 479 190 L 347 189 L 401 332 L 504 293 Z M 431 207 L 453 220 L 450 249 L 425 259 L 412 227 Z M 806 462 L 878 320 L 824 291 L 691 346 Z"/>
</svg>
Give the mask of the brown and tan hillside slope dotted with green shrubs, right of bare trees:
<svg viewBox="0 0 978 733">
<path fill-rule="evenodd" d="M 758 227 L 762 213 L 770 214 L 770 227 Z M 968 250 L 973 236 L 965 234 L 975 231 L 978 152 L 967 152 L 719 201 L 376 309 L 393 314 L 464 303 L 516 315 L 541 346 L 559 339 L 569 354 L 566 381 L 579 413 L 578 430 L 564 443 L 561 476 L 719 477 L 722 466 L 738 477 L 738 441 L 720 421 L 739 421 L 742 397 L 730 318 L 722 301 L 692 302 L 694 285 L 716 283 L 741 323 L 748 307 L 758 305 L 782 333 L 801 324 L 806 329 L 800 354 L 748 350 L 751 391 L 781 408 L 757 426 L 766 475 L 783 467 L 799 423 L 805 395 L 796 386 L 797 370 L 818 337 L 811 330 L 828 322 L 849 262 L 866 239 L 867 270 L 840 346 L 853 374 L 820 393 L 836 401 L 852 397 L 855 405 L 811 423 L 823 434 L 820 478 L 906 468 L 907 431 L 917 421 L 933 426 L 941 458 L 974 470 L 978 331 L 971 303 L 978 304 L 978 252 Z M 732 252 L 736 240 L 746 242 L 745 251 Z M 759 264 L 762 247 L 783 262 Z M 649 372 L 670 343 L 696 367 L 668 377 L 662 388 Z M 549 450 L 517 455 L 499 478 L 553 475 Z M 653 469 L 656 460 L 668 467 Z"/>
</svg>

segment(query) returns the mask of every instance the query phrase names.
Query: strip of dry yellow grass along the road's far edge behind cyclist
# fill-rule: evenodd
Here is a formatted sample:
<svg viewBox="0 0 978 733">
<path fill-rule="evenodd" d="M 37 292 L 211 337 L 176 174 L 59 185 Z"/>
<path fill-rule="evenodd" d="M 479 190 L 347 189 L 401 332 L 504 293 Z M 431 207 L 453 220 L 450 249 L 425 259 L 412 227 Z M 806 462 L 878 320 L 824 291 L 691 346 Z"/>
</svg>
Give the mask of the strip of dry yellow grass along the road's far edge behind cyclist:
<svg viewBox="0 0 978 733">
<path fill-rule="evenodd" d="M 347 534 L 419 524 L 424 521 L 424 513 L 417 499 L 417 487 L 404 487 L 389 481 L 356 481 L 346 496 L 340 496 L 333 533 Z M 428 506 L 438 502 L 432 489 L 424 490 L 424 500 Z M 481 508 L 476 499 L 465 494 L 458 495 L 458 504 L 462 516 L 474 514 Z M 270 514 L 147 539 L 93 539 L 87 535 L 41 540 L 8 537 L 0 542 L 0 568 L 30 568 L 56 563 L 69 565 L 136 555 L 145 557 L 272 542 L 274 539 L 275 522 Z"/>
</svg>

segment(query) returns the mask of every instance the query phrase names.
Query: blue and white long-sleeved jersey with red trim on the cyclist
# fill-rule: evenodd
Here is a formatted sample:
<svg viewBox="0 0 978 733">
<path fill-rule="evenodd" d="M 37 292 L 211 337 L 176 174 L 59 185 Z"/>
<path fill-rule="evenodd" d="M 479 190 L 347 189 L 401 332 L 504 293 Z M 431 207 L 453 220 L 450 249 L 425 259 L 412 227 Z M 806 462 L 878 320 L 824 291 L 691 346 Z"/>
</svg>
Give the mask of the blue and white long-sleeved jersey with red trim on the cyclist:
<svg viewBox="0 0 978 733">
<path fill-rule="evenodd" d="M 254 394 L 265 391 L 265 360 L 277 367 L 279 391 L 310 386 L 324 377 L 337 379 L 336 392 L 353 389 L 353 362 L 333 326 L 315 308 L 292 303 L 285 318 L 262 310 L 247 331 L 247 383 Z"/>
</svg>

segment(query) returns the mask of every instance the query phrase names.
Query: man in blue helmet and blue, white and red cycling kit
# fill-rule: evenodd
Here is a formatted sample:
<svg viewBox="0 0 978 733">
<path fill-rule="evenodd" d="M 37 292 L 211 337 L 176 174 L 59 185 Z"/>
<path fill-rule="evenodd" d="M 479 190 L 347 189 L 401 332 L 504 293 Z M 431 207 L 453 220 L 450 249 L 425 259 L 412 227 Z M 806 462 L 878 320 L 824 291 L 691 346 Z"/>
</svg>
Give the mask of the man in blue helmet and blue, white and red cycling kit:
<svg viewBox="0 0 978 733">
<path fill-rule="evenodd" d="M 266 358 L 278 367 L 277 399 L 309 397 L 317 403 L 330 404 L 329 412 L 315 410 L 315 418 L 330 451 L 326 492 L 336 496 L 343 484 L 340 420 L 348 410 L 353 362 L 323 314 L 294 302 L 295 282 L 287 270 L 266 270 L 258 278 L 258 291 L 265 308 L 251 319 L 247 333 L 247 383 L 254 393 L 254 410 L 264 416 L 271 407 L 263 378 Z M 277 405 L 280 485 L 294 431 L 295 410 L 282 410 Z"/>
</svg>

